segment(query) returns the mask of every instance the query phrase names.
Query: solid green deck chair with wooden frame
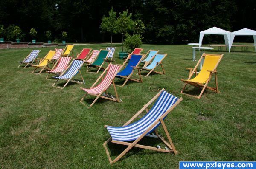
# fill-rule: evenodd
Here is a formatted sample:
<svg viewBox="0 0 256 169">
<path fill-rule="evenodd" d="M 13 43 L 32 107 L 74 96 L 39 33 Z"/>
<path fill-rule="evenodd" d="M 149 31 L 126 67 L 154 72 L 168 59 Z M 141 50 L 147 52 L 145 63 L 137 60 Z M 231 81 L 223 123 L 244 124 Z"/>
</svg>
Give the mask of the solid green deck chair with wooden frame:
<svg viewBox="0 0 256 169">
<path fill-rule="evenodd" d="M 102 69 L 102 66 L 105 63 L 106 57 L 108 56 L 109 50 L 100 50 L 97 59 L 90 65 L 87 65 L 87 72 L 90 72 L 90 68 L 96 68 L 98 69 L 96 72 L 90 72 L 90 73 L 98 73 L 99 70 Z"/>
</svg>

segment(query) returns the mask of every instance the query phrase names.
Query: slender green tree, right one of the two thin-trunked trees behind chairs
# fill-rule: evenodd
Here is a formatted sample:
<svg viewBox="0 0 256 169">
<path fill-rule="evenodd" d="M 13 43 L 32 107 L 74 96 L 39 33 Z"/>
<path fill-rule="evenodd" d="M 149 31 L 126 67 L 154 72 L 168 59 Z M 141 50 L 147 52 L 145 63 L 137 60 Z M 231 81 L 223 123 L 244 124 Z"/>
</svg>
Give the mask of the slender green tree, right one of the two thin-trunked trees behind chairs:
<svg viewBox="0 0 256 169">
<path fill-rule="evenodd" d="M 134 22 L 131 19 L 131 15 L 128 15 L 128 10 L 122 11 L 122 13 L 119 13 L 119 17 L 116 20 L 116 31 L 119 34 L 122 34 L 122 52 L 124 51 L 123 46 L 123 37 L 124 34 L 126 34 L 128 31 L 130 31 L 133 28 Z"/>
</svg>

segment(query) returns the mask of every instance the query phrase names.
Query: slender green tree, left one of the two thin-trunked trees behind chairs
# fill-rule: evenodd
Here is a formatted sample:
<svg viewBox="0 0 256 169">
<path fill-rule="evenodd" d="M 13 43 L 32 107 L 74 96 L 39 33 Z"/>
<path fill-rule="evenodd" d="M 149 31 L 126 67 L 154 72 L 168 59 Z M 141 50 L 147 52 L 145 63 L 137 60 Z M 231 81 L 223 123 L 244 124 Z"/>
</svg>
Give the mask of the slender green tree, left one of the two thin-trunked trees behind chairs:
<svg viewBox="0 0 256 169">
<path fill-rule="evenodd" d="M 103 32 L 108 32 L 111 36 L 111 45 L 112 45 L 112 35 L 116 34 L 116 12 L 112 7 L 110 11 L 108 11 L 109 17 L 105 15 L 102 17 L 101 29 Z"/>
</svg>

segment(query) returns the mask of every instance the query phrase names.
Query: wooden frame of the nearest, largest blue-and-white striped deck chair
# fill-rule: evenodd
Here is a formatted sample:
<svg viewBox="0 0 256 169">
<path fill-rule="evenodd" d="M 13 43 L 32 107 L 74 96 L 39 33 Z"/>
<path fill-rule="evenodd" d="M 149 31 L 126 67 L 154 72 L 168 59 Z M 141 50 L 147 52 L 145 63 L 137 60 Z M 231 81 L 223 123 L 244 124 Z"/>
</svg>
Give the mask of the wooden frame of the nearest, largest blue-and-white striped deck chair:
<svg viewBox="0 0 256 169">
<path fill-rule="evenodd" d="M 149 106 L 155 99 L 157 99 L 158 96 L 160 96 L 160 94 L 161 94 L 161 92 L 162 92 L 163 90 L 164 90 L 164 89 L 160 90 L 160 92 L 157 93 L 156 96 L 154 96 L 150 101 L 148 101 L 148 103 L 145 104 L 145 105 L 143 106 L 143 108 L 140 109 L 140 110 L 139 110 L 130 120 L 128 120 L 123 126 L 126 126 L 126 125 L 130 124 L 132 121 L 134 121 L 134 119 L 135 119 L 138 115 L 140 115 L 140 113 L 142 113 L 144 110 L 146 111 L 146 113 L 148 113 L 148 106 Z M 156 121 L 154 121 L 154 123 L 152 123 L 151 126 L 150 126 L 145 132 L 143 132 L 143 134 L 140 135 L 139 138 L 137 138 L 136 140 L 134 140 L 132 143 L 125 142 L 125 141 L 116 141 L 116 140 L 112 140 L 111 137 L 108 138 L 108 140 L 103 143 L 103 147 L 105 148 L 105 151 L 106 151 L 106 154 L 107 154 L 107 156 L 108 156 L 108 160 L 109 160 L 110 164 L 113 164 L 113 163 L 115 163 L 116 161 L 118 161 L 120 158 L 122 158 L 122 156 L 125 155 L 132 147 L 138 147 L 138 148 L 142 148 L 142 149 L 151 149 L 151 150 L 158 151 L 158 152 L 174 153 L 175 155 L 177 155 L 179 152 L 176 151 L 176 149 L 175 149 L 175 146 L 174 146 L 174 144 L 173 144 L 173 142 L 172 142 L 172 139 L 171 139 L 171 137 L 170 137 L 170 135 L 169 135 L 169 132 L 168 132 L 168 130 L 167 130 L 167 128 L 166 128 L 166 125 L 165 125 L 165 123 L 164 123 L 164 121 L 163 121 L 163 118 L 165 118 L 166 115 L 168 115 L 168 114 L 180 103 L 180 101 L 182 101 L 182 100 L 183 100 L 182 98 L 178 99 L 178 100 L 175 102 L 175 104 L 172 105 L 172 107 L 170 107 L 168 110 L 166 110 L 166 112 L 165 112 L 163 115 L 161 115 L 160 118 L 158 118 Z M 155 134 L 157 135 L 157 137 L 160 138 L 160 140 L 163 141 L 163 143 L 166 144 L 166 146 L 167 146 L 170 150 L 169 150 L 169 149 L 161 149 L 161 148 L 156 148 L 156 147 L 152 147 L 152 146 L 145 146 L 145 145 L 137 144 L 144 136 L 146 136 L 146 135 L 148 134 L 148 132 L 149 132 L 150 130 L 152 130 L 152 129 L 154 128 L 154 126 L 155 126 L 158 122 L 160 122 L 160 123 L 162 124 L 163 130 L 164 130 L 164 132 L 165 132 L 165 134 L 166 134 L 166 136 L 167 136 L 167 138 L 168 138 L 168 141 L 166 141 L 162 136 L 160 136 L 160 135 L 158 134 L 157 129 L 155 129 L 154 132 L 155 132 Z M 104 127 L 108 127 L 108 126 L 105 125 Z M 127 147 L 121 154 L 119 154 L 113 161 L 112 161 L 112 159 L 111 159 L 111 157 L 110 157 L 110 154 L 109 154 L 109 152 L 108 152 L 108 148 L 107 148 L 107 146 L 106 146 L 106 145 L 108 144 L 108 142 L 110 142 L 110 141 L 111 141 L 111 143 L 122 144 L 122 145 L 128 146 L 128 147 Z"/>
</svg>

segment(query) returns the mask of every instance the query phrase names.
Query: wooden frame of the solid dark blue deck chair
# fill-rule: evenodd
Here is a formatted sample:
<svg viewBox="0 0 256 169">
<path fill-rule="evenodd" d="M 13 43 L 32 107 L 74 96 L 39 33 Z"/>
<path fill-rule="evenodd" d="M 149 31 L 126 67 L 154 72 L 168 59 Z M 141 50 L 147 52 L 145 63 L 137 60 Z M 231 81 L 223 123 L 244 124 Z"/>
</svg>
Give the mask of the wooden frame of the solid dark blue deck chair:
<svg viewBox="0 0 256 169">
<path fill-rule="evenodd" d="M 140 83 L 142 83 L 142 78 L 141 78 L 140 72 L 138 72 L 138 73 L 139 73 L 139 76 L 140 76 L 140 79 L 132 79 L 131 77 L 132 77 L 132 75 L 133 75 L 133 73 L 134 73 L 135 68 L 140 64 L 140 62 L 141 62 L 141 60 L 143 59 L 143 57 L 145 56 L 145 54 L 134 54 L 134 55 L 140 55 L 140 56 L 142 56 L 142 57 L 140 58 L 140 61 L 137 63 L 137 65 L 136 65 L 136 66 L 133 66 L 133 70 L 132 70 L 132 72 L 131 72 L 130 75 L 128 75 L 128 76 L 116 75 L 116 76 L 118 76 L 118 77 L 121 77 L 121 78 L 126 79 L 125 82 L 124 82 L 122 85 L 116 85 L 116 86 L 124 87 L 125 84 L 128 82 L 128 80 L 131 80 L 131 81 L 134 81 L 134 82 L 140 82 Z M 125 67 L 126 62 L 127 62 L 130 58 L 131 58 L 131 55 L 130 55 L 130 56 L 125 60 L 125 62 L 122 64 L 121 68 L 119 69 L 120 71 L 122 70 L 123 67 Z"/>
</svg>

